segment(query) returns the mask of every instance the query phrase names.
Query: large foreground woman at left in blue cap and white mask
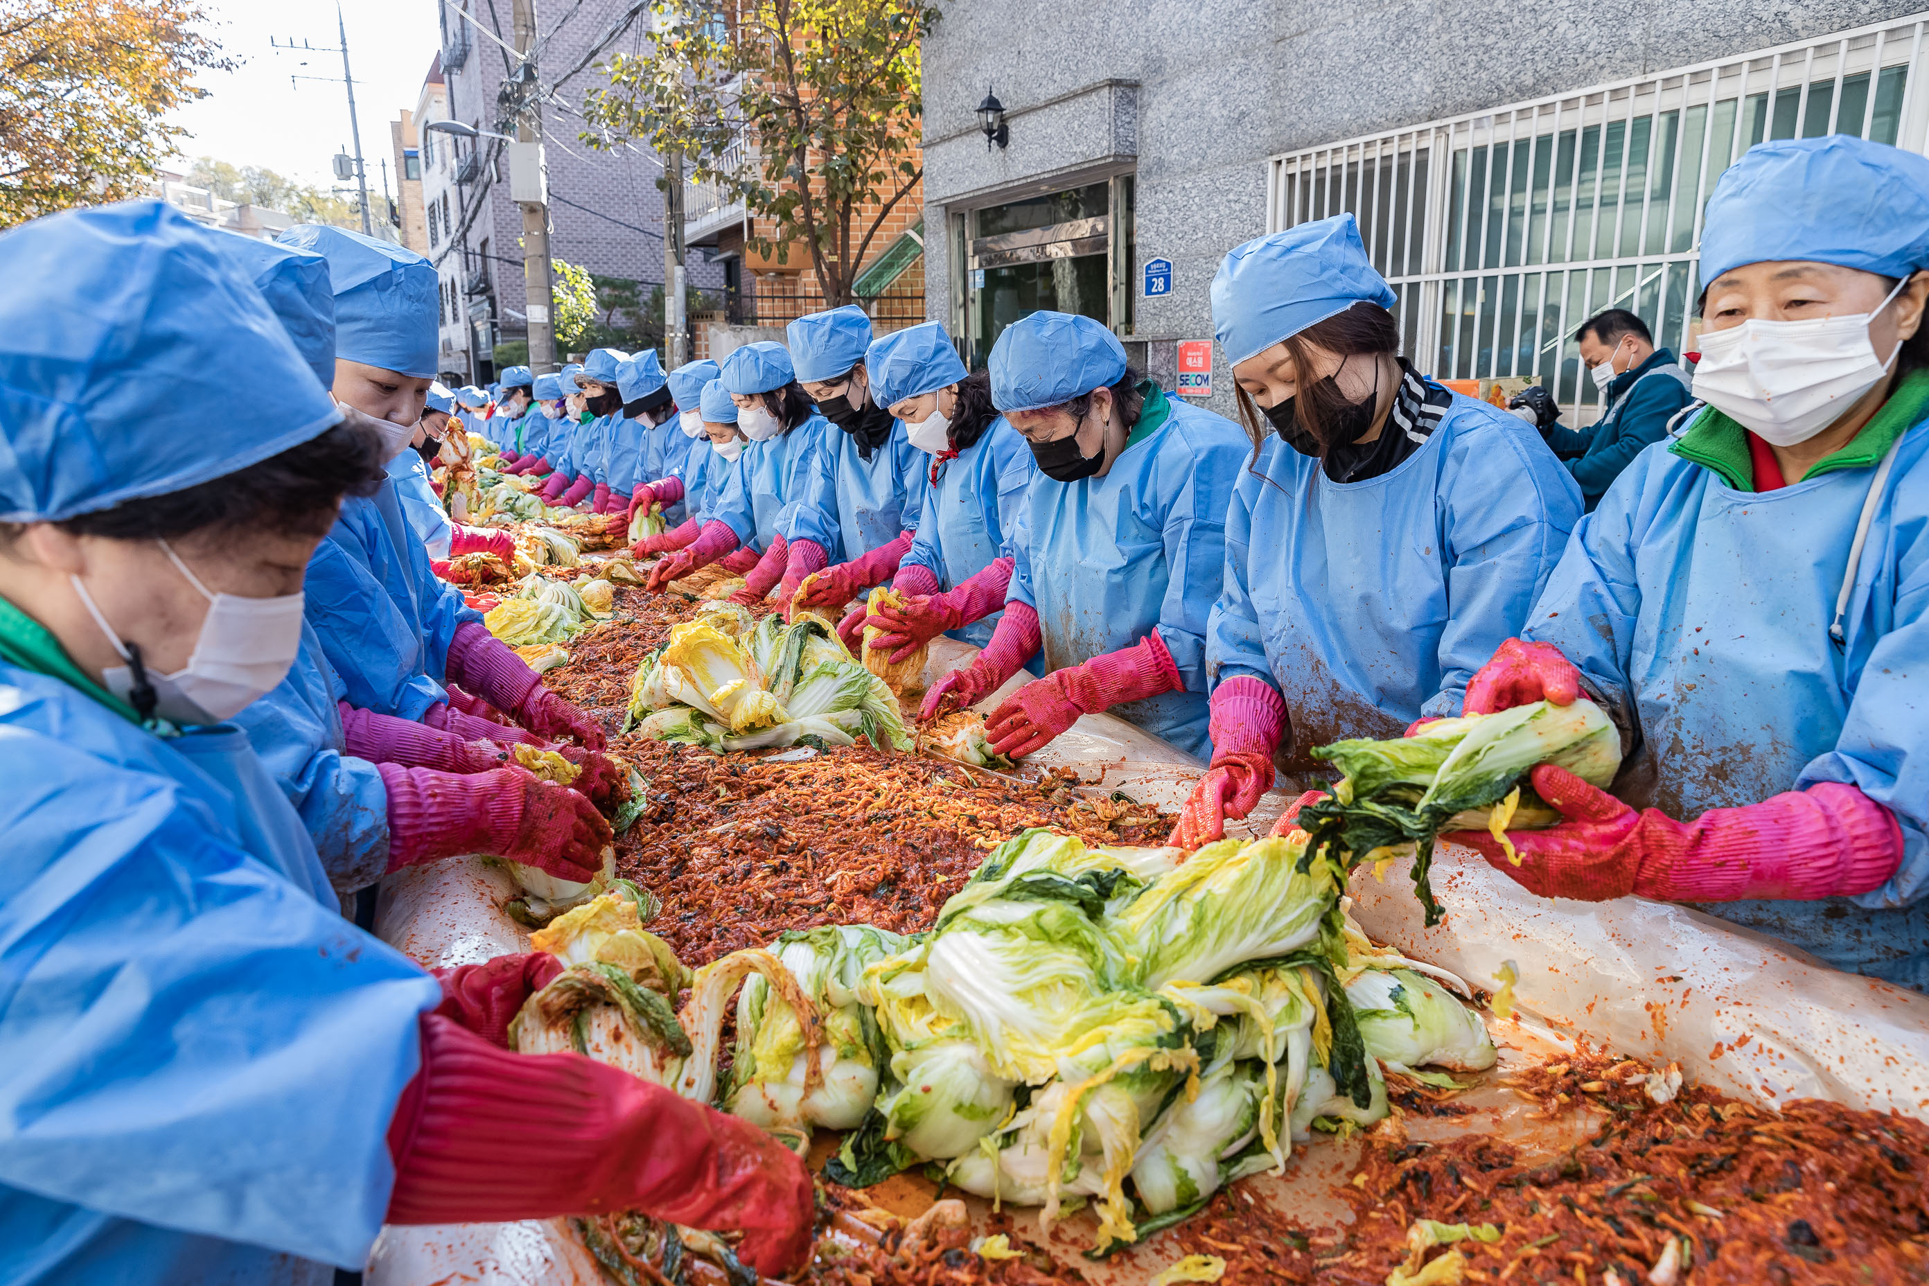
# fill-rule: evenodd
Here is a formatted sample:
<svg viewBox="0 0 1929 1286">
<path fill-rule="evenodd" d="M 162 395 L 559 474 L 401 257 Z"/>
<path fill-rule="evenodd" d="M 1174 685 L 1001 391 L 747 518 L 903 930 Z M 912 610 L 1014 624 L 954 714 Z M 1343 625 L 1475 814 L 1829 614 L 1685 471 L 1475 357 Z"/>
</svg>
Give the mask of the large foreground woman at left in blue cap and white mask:
<svg viewBox="0 0 1929 1286">
<path fill-rule="evenodd" d="M 380 436 L 160 202 L 12 229 L 0 272 L 0 1280 L 320 1286 L 384 1220 L 631 1205 L 802 1259 L 793 1157 L 509 1053 L 556 960 L 438 981 L 355 929 L 224 723 L 287 671 Z M 530 1122 L 542 1155 L 505 1153 Z"/>
</svg>

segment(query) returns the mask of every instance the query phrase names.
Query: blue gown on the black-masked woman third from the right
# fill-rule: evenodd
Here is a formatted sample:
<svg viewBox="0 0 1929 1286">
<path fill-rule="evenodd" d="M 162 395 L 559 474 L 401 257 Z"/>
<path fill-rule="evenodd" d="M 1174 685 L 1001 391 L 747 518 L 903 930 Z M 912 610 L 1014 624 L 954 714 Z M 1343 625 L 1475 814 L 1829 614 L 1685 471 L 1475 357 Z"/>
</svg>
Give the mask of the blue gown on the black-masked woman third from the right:
<svg viewBox="0 0 1929 1286">
<path fill-rule="evenodd" d="M 1184 692 L 1111 713 L 1209 760 L 1206 617 L 1225 569 L 1225 507 L 1252 445 L 1225 416 L 1165 403 L 1165 422 L 1127 445 L 1103 478 L 1032 478 L 1005 598 L 1038 611 L 1046 673 L 1157 630 Z"/>
</svg>

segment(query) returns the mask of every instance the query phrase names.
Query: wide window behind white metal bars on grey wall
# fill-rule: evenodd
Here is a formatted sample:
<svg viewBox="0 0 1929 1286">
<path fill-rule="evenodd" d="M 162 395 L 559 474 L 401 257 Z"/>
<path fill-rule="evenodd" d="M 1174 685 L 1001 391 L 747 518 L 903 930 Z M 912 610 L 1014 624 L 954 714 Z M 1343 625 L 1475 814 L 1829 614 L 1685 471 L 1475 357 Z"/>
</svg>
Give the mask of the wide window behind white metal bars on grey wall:
<svg viewBox="0 0 1929 1286">
<path fill-rule="evenodd" d="M 1701 212 L 1744 150 L 1827 133 L 1923 150 L 1925 31 L 1861 27 L 1275 156 L 1267 228 L 1350 210 L 1416 366 L 1595 403 L 1572 339 L 1595 312 L 1632 308 L 1657 345 L 1692 349 Z"/>
</svg>

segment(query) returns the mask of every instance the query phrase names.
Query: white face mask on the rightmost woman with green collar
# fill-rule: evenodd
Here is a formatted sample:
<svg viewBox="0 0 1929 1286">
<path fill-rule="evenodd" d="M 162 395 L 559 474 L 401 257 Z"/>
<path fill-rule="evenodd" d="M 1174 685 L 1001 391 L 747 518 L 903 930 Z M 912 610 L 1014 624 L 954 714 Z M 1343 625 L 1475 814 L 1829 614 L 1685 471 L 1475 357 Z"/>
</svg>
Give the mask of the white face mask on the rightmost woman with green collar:
<svg viewBox="0 0 1929 1286">
<path fill-rule="evenodd" d="M 1904 285 L 1908 278 L 1875 312 Z M 1813 322 L 1750 318 L 1728 330 L 1701 332 L 1694 395 L 1771 445 L 1807 442 L 1875 388 L 1902 351 L 1898 341 L 1888 361 L 1875 357 L 1869 341 L 1875 312 Z"/>
</svg>

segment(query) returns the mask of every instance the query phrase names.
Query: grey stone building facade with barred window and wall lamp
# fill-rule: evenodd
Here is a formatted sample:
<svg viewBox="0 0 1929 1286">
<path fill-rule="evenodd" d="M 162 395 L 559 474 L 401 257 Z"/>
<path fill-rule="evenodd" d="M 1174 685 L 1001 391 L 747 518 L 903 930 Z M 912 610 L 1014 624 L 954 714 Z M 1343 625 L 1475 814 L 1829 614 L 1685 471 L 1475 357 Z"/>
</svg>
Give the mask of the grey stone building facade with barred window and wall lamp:
<svg viewBox="0 0 1929 1286">
<path fill-rule="evenodd" d="M 1750 143 L 1925 150 L 1925 17 L 1921 0 L 957 0 L 924 44 L 926 312 L 972 364 L 1032 308 L 1086 312 L 1231 413 L 1202 343 L 1221 256 L 1352 210 L 1424 372 L 1545 380 L 1586 420 L 1574 328 L 1632 307 L 1657 343 L 1692 343 L 1699 210 Z M 988 89 L 1005 147 L 978 120 Z"/>
</svg>

